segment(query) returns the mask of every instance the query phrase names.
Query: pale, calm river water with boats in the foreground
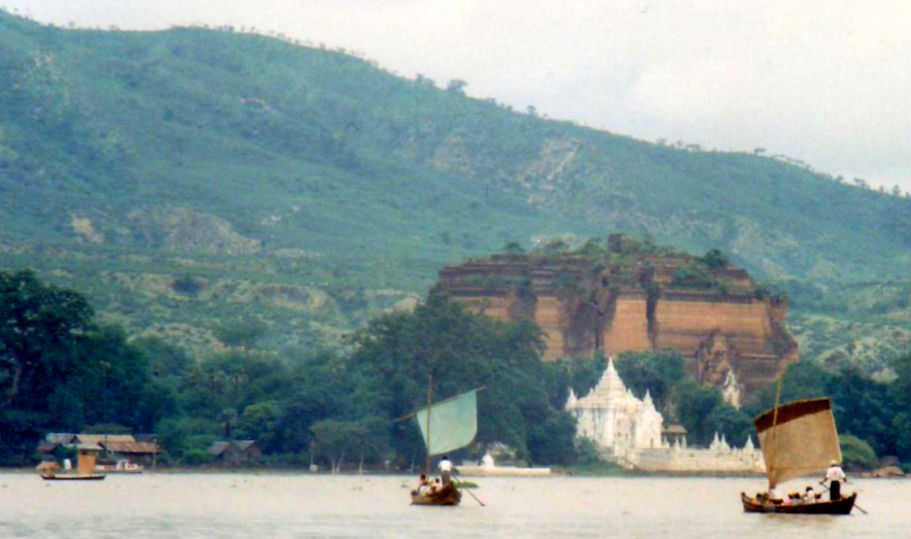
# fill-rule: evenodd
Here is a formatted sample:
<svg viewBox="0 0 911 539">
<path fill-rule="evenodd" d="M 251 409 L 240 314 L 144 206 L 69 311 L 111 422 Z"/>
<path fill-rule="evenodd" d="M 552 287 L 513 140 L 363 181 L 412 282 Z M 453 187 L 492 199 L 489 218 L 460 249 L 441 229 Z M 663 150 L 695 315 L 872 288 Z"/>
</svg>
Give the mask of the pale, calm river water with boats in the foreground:
<svg viewBox="0 0 911 539">
<path fill-rule="evenodd" d="M 0 473 L 0 538 L 911 537 L 911 481 L 858 480 L 847 517 L 745 514 L 761 478 L 478 478 L 455 508 L 409 505 L 412 479 L 280 473 Z M 799 488 L 795 484 L 792 488 Z"/>
</svg>

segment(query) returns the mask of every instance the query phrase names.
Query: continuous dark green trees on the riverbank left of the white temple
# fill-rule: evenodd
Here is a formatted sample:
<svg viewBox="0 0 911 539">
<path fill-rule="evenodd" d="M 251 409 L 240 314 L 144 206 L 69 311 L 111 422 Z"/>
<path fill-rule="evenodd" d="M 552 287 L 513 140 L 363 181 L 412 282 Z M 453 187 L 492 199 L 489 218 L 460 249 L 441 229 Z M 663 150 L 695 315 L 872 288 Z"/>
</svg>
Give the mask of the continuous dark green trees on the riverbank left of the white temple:
<svg viewBox="0 0 911 539">
<path fill-rule="evenodd" d="M 7 463 L 32 459 L 45 432 L 103 424 L 157 433 L 178 463 L 205 462 L 216 439 L 252 438 L 275 463 L 408 467 L 423 460 L 423 443 L 413 420 L 395 418 L 426 403 L 430 380 L 435 400 L 484 387 L 469 451 L 503 442 L 526 462 L 575 459 L 573 421 L 561 410 L 579 377 L 573 364 L 541 362 L 534 324 L 490 320 L 442 297 L 375 318 L 343 351 L 266 353 L 225 330 L 225 350 L 201 360 L 158 338 L 128 341 L 98 324 L 80 294 L 31 272 L 0 273 L 0 306 Z"/>
</svg>

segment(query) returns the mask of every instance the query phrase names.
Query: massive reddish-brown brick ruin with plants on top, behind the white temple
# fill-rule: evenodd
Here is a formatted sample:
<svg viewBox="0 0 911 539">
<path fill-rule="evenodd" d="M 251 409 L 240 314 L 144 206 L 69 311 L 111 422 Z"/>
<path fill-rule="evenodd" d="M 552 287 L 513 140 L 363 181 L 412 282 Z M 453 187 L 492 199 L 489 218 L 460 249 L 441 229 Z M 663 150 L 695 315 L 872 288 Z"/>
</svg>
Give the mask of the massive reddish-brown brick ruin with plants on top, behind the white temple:
<svg viewBox="0 0 911 539">
<path fill-rule="evenodd" d="M 700 381 L 721 385 L 732 372 L 745 394 L 797 360 L 787 300 L 757 290 L 744 270 L 624 241 L 612 237 L 594 256 L 472 260 L 443 268 L 434 292 L 494 318 L 533 319 L 545 360 L 670 348 Z"/>
</svg>

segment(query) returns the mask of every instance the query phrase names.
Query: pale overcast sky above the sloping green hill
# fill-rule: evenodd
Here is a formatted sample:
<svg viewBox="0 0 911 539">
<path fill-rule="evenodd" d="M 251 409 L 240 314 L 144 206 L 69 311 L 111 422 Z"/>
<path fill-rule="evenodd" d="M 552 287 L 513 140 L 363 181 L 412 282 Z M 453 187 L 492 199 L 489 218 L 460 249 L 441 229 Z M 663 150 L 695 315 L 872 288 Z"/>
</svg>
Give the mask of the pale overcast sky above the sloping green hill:
<svg viewBox="0 0 911 539">
<path fill-rule="evenodd" d="M 911 2 L 0 0 L 42 22 L 208 24 L 344 47 L 646 140 L 767 148 L 911 191 Z"/>
</svg>

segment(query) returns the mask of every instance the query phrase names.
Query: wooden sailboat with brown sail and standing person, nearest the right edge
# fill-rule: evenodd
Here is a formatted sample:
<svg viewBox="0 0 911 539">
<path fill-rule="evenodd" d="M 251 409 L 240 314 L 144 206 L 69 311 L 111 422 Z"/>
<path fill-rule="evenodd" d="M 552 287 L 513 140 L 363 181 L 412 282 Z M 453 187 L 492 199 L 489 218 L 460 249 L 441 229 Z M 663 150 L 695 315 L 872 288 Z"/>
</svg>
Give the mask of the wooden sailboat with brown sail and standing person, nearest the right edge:
<svg viewBox="0 0 911 539">
<path fill-rule="evenodd" d="M 780 387 L 779 387 L 780 391 Z M 762 447 L 769 479 L 769 492 L 780 483 L 825 470 L 831 461 L 841 462 L 838 431 L 828 398 L 790 402 L 756 418 L 756 434 Z M 854 508 L 857 493 L 838 500 L 809 500 L 791 503 L 768 493 L 755 497 L 740 493 L 748 513 L 795 515 L 847 515 Z"/>
</svg>

